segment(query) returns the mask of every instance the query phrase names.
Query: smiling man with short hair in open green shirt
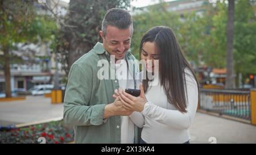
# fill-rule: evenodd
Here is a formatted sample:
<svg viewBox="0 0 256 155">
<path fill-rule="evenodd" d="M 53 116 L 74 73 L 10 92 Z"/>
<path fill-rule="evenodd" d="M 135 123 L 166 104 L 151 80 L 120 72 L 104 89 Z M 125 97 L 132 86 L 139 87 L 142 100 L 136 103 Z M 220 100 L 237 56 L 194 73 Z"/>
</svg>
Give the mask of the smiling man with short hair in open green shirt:
<svg viewBox="0 0 256 155">
<path fill-rule="evenodd" d="M 134 143 L 137 129 L 129 118 L 132 111 L 123 108 L 119 98 L 114 100 L 112 95 L 115 89 L 136 87 L 136 83 L 122 80 L 116 74 L 114 79 L 99 79 L 97 66 L 101 60 L 108 61 L 114 64 L 114 68 L 109 66 L 111 72 L 118 68 L 118 60 L 135 60 L 129 51 L 133 35 L 129 12 L 110 9 L 102 21 L 100 35 L 103 44 L 97 43 L 71 66 L 64 123 L 74 126 L 75 143 Z M 115 56 L 114 62 L 110 56 Z M 129 74 L 138 72 L 138 66 L 129 62 L 126 65 Z"/>
</svg>

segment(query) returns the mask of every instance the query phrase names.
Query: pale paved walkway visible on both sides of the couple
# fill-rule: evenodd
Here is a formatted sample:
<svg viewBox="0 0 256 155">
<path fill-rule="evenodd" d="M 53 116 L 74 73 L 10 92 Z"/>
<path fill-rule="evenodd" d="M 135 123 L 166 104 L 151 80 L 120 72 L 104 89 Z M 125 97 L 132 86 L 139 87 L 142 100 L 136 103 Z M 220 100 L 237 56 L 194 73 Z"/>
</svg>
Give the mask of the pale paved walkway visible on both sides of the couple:
<svg viewBox="0 0 256 155">
<path fill-rule="evenodd" d="M 30 123 L 63 116 L 63 104 L 50 98 L 0 102 L 0 125 Z M 189 129 L 191 143 L 256 143 L 256 126 L 197 112 Z M 210 140 L 210 141 L 209 141 Z"/>
</svg>

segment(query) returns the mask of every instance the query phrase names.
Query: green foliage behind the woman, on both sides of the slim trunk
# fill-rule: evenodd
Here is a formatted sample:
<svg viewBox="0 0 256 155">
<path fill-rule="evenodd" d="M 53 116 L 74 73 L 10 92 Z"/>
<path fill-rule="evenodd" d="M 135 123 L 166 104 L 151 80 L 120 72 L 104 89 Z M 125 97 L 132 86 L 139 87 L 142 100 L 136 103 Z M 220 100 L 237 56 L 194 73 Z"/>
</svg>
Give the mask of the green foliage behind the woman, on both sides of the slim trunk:
<svg viewBox="0 0 256 155">
<path fill-rule="evenodd" d="M 234 15 L 234 66 L 236 73 L 256 74 L 256 16 L 255 1 L 237 0 Z M 226 25 L 228 4 L 216 6 L 205 3 L 202 15 L 197 12 L 183 13 L 166 11 L 167 3 L 151 7 L 149 11 L 133 16 L 134 36 L 132 48 L 139 58 L 139 44 L 143 34 L 154 26 L 168 26 L 174 30 L 189 61 L 213 68 L 226 67 Z M 160 9 L 162 8 L 162 9 Z"/>
</svg>

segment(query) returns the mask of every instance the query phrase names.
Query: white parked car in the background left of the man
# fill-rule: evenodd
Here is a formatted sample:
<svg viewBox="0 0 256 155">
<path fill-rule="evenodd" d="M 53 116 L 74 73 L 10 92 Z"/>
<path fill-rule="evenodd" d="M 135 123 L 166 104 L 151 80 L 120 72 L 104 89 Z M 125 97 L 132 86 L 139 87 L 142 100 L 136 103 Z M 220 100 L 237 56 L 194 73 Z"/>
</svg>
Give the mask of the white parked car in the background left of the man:
<svg viewBox="0 0 256 155">
<path fill-rule="evenodd" d="M 43 95 L 51 93 L 53 85 L 37 85 L 28 90 L 32 95 Z"/>
</svg>

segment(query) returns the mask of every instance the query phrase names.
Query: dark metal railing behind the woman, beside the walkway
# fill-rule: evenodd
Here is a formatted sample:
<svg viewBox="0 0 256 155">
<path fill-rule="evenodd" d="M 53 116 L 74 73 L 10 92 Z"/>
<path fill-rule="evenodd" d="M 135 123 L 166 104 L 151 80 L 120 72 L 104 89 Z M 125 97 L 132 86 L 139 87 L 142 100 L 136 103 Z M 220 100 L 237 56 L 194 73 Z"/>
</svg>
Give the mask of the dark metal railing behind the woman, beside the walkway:
<svg viewBox="0 0 256 155">
<path fill-rule="evenodd" d="M 200 89 L 199 108 L 220 115 L 251 120 L 250 91 Z"/>
</svg>

